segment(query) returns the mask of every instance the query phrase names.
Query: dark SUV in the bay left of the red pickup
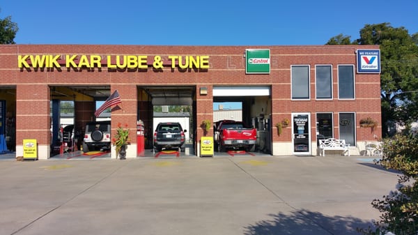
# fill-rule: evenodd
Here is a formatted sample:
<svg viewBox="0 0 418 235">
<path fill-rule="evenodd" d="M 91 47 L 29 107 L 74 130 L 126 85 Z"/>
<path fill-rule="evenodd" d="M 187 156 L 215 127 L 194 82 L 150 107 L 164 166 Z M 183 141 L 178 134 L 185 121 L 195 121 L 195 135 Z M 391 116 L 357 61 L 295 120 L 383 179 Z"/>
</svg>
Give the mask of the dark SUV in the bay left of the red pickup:
<svg viewBox="0 0 418 235">
<path fill-rule="evenodd" d="M 158 123 L 154 132 L 154 147 L 162 149 L 180 148 L 185 151 L 185 132 L 180 123 Z"/>
</svg>

